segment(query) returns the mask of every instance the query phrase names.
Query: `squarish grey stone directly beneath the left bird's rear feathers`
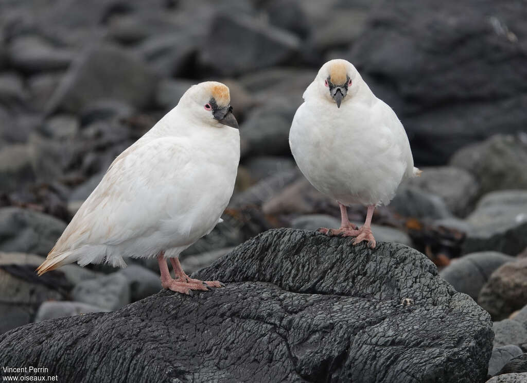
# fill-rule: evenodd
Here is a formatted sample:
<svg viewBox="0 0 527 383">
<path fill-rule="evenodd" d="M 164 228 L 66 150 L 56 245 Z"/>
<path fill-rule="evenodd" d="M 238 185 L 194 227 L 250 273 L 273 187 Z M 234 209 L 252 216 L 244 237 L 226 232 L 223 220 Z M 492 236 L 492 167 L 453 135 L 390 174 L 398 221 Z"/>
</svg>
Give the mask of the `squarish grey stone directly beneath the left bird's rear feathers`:
<svg viewBox="0 0 527 383">
<path fill-rule="evenodd" d="M 123 274 L 114 272 L 77 283 L 71 297 L 89 305 L 116 310 L 130 303 L 130 282 Z"/>
</svg>

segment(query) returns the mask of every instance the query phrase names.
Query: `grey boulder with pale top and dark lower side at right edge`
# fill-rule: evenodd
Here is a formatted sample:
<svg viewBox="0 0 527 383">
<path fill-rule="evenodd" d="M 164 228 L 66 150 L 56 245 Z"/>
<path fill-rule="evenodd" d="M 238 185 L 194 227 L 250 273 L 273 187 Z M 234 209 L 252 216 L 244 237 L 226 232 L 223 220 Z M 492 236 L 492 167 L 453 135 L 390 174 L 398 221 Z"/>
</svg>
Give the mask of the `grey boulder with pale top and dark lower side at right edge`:
<svg viewBox="0 0 527 383">
<path fill-rule="evenodd" d="M 494 250 L 515 256 L 527 246 L 527 191 L 486 194 L 466 220 L 472 229 L 463 252 Z"/>
</svg>

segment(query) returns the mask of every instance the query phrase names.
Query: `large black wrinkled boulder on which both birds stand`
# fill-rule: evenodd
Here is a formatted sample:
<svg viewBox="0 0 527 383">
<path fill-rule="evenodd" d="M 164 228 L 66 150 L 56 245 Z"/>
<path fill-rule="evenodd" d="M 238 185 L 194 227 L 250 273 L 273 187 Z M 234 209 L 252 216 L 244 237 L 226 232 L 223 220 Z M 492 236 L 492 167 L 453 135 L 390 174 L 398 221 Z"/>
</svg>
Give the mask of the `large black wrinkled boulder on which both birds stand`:
<svg viewBox="0 0 527 383">
<path fill-rule="evenodd" d="M 405 245 L 372 251 L 346 238 L 270 230 L 194 277 L 227 287 L 192 297 L 161 291 L 115 312 L 21 327 L 0 338 L 0 360 L 31 361 L 67 381 L 486 377 L 489 315 Z"/>
</svg>

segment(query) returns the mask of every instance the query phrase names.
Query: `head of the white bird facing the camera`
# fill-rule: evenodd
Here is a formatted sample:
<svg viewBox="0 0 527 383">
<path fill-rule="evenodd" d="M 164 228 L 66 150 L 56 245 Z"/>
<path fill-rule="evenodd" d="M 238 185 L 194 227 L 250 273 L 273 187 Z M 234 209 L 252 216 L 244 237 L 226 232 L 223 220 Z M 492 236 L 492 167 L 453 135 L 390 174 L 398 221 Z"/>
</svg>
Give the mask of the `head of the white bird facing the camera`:
<svg viewBox="0 0 527 383">
<path fill-rule="evenodd" d="M 341 59 L 324 64 L 315 79 L 318 93 L 328 101 L 335 102 L 338 108 L 343 101 L 351 99 L 358 92 L 360 81 L 362 78 L 355 66 Z"/>
</svg>

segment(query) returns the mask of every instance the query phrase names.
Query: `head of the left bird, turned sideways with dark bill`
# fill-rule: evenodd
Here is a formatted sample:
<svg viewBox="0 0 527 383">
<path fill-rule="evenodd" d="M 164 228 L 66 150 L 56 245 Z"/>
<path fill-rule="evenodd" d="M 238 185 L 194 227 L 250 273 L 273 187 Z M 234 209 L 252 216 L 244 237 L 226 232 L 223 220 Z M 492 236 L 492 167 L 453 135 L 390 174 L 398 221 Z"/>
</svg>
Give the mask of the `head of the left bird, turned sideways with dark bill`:
<svg viewBox="0 0 527 383">
<path fill-rule="evenodd" d="M 182 103 L 194 117 L 204 123 L 213 126 L 227 125 L 238 129 L 238 121 L 232 114 L 227 85 L 216 81 L 192 85 L 181 97 L 180 104 Z"/>
</svg>

